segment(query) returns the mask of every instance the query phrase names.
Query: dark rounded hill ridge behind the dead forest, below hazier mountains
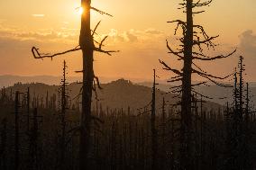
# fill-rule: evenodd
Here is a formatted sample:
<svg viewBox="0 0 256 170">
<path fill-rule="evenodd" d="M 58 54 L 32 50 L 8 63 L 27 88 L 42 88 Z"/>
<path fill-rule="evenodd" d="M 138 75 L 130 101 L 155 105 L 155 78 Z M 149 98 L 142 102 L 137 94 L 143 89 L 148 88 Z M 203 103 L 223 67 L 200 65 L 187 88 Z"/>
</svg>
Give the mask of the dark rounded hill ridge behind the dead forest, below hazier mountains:
<svg viewBox="0 0 256 170">
<path fill-rule="evenodd" d="M 97 89 L 97 97 L 99 99 L 98 105 L 102 105 L 103 109 L 127 109 L 130 107 L 133 111 L 137 111 L 139 108 L 148 106 L 150 109 L 151 105 L 151 87 L 136 85 L 129 80 L 119 79 L 112 81 L 108 84 L 102 84 L 102 90 Z M 49 97 L 53 94 L 58 99 L 58 88 L 59 85 L 44 85 L 40 83 L 36 84 L 15 84 L 14 86 L 6 88 L 7 93 L 14 91 L 26 92 L 27 87 L 30 87 L 31 96 L 38 97 L 41 101 L 45 101 L 46 94 Z M 72 83 L 68 85 L 70 99 L 76 98 L 81 89 L 80 84 Z M 167 103 L 166 108 L 169 108 L 171 104 L 178 102 L 178 98 L 174 98 L 176 94 L 166 94 L 163 91 L 158 90 L 156 92 L 156 108 L 160 112 L 163 98 Z M 93 108 L 96 108 L 96 98 L 93 96 Z M 217 103 L 204 103 L 206 108 L 218 109 L 223 106 Z"/>
</svg>

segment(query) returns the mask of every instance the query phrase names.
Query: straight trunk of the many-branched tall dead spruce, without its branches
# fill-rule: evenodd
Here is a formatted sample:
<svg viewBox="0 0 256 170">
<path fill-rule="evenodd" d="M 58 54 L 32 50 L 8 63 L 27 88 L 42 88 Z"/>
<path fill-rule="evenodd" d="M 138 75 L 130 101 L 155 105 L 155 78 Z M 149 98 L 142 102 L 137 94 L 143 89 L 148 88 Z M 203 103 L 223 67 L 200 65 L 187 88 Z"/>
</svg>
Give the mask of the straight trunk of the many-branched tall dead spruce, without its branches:
<svg viewBox="0 0 256 170">
<path fill-rule="evenodd" d="M 191 74 L 193 47 L 193 0 L 187 0 L 187 32 L 184 43 L 184 67 L 181 97 L 181 138 L 180 166 L 182 169 L 193 169 L 192 162 L 192 120 L 191 120 Z"/>
</svg>

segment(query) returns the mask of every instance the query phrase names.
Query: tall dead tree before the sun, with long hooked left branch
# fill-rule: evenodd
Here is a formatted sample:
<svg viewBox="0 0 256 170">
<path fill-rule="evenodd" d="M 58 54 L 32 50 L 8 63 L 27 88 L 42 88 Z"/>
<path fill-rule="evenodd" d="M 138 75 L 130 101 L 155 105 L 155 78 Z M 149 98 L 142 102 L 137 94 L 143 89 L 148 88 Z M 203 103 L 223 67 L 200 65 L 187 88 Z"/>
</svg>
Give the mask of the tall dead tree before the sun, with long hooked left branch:
<svg viewBox="0 0 256 170">
<path fill-rule="evenodd" d="M 55 58 L 57 56 L 67 54 L 69 52 L 74 52 L 82 50 L 83 54 L 83 70 L 79 71 L 83 73 L 83 85 L 82 85 L 82 112 L 80 120 L 80 148 L 79 148 L 79 162 L 80 169 L 89 169 L 89 152 L 91 148 L 90 142 L 90 132 L 91 132 L 91 121 L 97 121 L 98 119 L 94 118 L 91 115 L 91 102 L 92 102 L 92 91 L 96 89 L 96 84 L 99 85 L 98 78 L 94 74 L 94 51 L 102 52 L 107 55 L 110 55 L 115 50 L 104 50 L 102 47 L 107 36 L 100 42 L 97 42 L 94 37 L 96 35 L 96 29 L 100 22 L 96 24 L 94 30 L 91 30 L 90 27 L 90 10 L 94 10 L 97 13 L 106 14 L 112 16 L 108 13 L 100 11 L 95 7 L 91 6 L 91 0 L 81 0 L 81 7 L 84 9 L 84 12 L 81 16 L 81 29 L 79 37 L 79 45 L 75 49 L 69 49 L 63 52 L 56 54 L 43 54 L 40 53 L 39 49 L 32 47 L 32 54 L 34 58 Z M 97 44 L 97 47 L 95 45 Z"/>
</svg>

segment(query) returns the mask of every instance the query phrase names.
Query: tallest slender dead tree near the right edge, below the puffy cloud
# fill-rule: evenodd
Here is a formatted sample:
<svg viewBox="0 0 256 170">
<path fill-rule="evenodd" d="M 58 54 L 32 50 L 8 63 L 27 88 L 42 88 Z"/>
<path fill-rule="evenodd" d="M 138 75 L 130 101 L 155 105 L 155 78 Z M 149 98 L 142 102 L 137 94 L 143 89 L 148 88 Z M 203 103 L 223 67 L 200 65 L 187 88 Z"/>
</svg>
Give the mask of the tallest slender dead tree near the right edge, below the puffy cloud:
<svg viewBox="0 0 256 170">
<path fill-rule="evenodd" d="M 246 157 L 246 131 L 245 131 L 245 123 L 246 115 L 244 110 L 244 82 L 243 82 L 243 58 L 240 57 L 239 70 L 234 73 L 234 88 L 233 88 L 233 111 L 230 115 L 230 130 L 227 130 L 227 141 L 229 142 L 229 146 L 227 147 L 229 150 L 229 154 L 227 157 L 227 168 L 232 169 L 244 169 L 246 166 L 245 159 Z M 229 116 L 229 115 L 228 115 Z M 229 121 L 229 120 L 227 120 Z"/>
</svg>

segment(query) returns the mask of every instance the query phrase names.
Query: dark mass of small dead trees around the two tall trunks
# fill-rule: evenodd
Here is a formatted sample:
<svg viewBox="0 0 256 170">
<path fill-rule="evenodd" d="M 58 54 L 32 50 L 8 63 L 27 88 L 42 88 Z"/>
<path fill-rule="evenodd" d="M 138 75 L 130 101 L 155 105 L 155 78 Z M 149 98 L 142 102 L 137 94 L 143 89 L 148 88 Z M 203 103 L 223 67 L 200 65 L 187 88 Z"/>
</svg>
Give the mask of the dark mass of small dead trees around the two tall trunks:
<svg viewBox="0 0 256 170">
<path fill-rule="evenodd" d="M 217 110 L 206 106 L 204 96 L 193 95 L 191 169 L 255 168 L 256 115 L 239 77 L 234 74 L 233 102 Z M 2 89 L 0 169 L 79 169 L 81 108 L 69 101 L 66 84 L 62 80 L 59 93 L 44 97 L 29 88 Z M 180 108 L 163 98 L 156 109 L 153 99 L 139 110 L 96 102 L 90 169 L 181 169 Z"/>
</svg>

